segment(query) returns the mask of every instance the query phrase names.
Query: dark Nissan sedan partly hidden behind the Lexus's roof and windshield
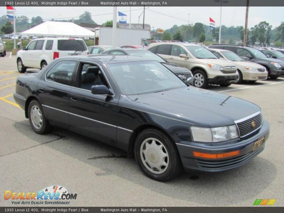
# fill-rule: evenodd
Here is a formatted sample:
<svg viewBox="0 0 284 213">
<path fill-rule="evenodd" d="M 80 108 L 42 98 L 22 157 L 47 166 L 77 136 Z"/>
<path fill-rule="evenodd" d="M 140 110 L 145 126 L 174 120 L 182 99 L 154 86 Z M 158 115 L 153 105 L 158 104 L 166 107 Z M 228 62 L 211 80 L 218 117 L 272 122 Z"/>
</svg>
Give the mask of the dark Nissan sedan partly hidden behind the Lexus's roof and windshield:
<svg viewBox="0 0 284 213">
<path fill-rule="evenodd" d="M 148 50 L 138 50 L 138 49 L 113 49 L 109 51 L 105 51 L 102 54 L 109 55 L 130 55 L 130 56 L 139 56 L 139 57 L 147 57 L 149 59 L 156 60 L 162 63 L 165 67 L 171 70 L 173 73 L 178 75 L 180 79 L 182 79 L 188 85 L 194 85 L 194 78 L 190 70 L 185 67 L 181 67 L 177 64 L 172 64 L 164 60 L 162 57 L 148 51 Z"/>
</svg>

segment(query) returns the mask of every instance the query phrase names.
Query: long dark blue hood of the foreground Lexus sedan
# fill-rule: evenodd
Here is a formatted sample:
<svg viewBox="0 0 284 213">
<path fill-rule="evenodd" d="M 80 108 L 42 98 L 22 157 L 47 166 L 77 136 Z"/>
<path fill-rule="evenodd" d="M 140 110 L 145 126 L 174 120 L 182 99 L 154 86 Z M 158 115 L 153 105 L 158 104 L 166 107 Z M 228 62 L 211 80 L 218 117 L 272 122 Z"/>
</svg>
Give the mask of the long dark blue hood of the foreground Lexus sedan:
<svg viewBox="0 0 284 213">
<path fill-rule="evenodd" d="M 120 106 L 149 112 L 202 127 L 233 125 L 260 111 L 251 102 L 195 87 L 121 96 Z"/>
</svg>

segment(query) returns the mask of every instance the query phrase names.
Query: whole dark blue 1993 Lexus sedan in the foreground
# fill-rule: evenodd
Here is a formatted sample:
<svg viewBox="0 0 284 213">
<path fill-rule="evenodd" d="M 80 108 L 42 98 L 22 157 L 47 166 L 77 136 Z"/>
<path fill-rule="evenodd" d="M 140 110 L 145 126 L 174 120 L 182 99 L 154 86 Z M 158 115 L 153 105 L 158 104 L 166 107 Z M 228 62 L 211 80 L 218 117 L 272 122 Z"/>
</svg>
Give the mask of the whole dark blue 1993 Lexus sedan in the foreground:
<svg viewBox="0 0 284 213">
<path fill-rule="evenodd" d="M 182 168 L 241 166 L 264 150 L 270 129 L 259 106 L 189 87 L 142 57 L 62 57 L 20 75 L 14 99 L 35 133 L 59 126 L 116 146 L 159 181 Z"/>
</svg>

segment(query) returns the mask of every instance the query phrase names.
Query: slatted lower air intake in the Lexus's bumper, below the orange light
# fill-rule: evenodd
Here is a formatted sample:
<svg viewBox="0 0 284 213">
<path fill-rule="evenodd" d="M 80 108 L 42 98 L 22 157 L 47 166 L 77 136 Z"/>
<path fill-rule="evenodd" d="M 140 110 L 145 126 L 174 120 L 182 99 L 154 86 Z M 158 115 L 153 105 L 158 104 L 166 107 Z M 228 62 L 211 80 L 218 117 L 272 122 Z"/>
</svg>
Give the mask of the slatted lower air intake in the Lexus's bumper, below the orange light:
<svg viewBox="0 0 284 213">
<path fill-rule="evenodd" d="M 199 167 L 218 169 L 218 168 L 228 167 L 228 166 L 241 163 L 245 161 L 246 159 L 250 158 L 253 154 L 254 152 L 251 151 L 245 155 L 238 156 L 238 157 L 231 158 L 231 159 L 218 160 L 218 161 L 196 160 L 196 162 L 199 165 Z"/>
</svg>

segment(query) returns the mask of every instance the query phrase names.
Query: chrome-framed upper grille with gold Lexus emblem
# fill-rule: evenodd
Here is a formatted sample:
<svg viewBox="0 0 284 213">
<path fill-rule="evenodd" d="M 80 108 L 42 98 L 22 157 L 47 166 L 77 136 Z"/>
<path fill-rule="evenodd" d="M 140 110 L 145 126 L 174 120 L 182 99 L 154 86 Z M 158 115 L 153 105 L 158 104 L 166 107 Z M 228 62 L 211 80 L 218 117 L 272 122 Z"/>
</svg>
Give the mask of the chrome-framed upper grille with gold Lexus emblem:
<svg viewBox="0 0 284 213">
<path fill-rule="evenodd" d="M 252 125 L 252 122 L 254 122 L 254 127 Z M 254 116 L 252 118 L 249 118 L 245 121 L 236 122 L 236 124 L 238 126 L 240 137 L 244 137 L 244 136 L 249 135 L 250 133 L 254 132 L 259 127 L 261 127 L 262 115 L 260 113 L 260 114 Z"/>
</svg>

